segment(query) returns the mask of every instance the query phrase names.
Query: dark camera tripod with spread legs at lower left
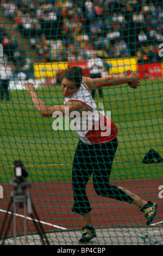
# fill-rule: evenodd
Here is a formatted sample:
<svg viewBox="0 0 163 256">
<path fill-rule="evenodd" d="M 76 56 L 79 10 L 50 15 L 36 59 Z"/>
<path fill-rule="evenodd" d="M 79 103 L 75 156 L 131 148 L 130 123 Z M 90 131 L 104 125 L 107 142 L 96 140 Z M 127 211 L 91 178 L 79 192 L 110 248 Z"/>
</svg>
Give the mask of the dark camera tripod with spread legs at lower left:
<svg viewBox="0 0 163 256">
<path fill-rule="evenodd" d="M 28 211 L 29 216 L 32 218 L 32 221 L 35 225 L 35 228 L 37 232 L 40 235 L 41 243 L 42 245 L 49 245 L 49 241 L 47 239 L 46 233 L 43 230 L 43 227 L 41 225 L 41 222 L 39 220 L 39 217 L 37 215 L 37 212 L 34 208 L 34 204 L 32 202 L 32 199 L 30 198 L 30 193 L 29 193 L 29 187 L 31 187 L 31 182 L 30 181 L 22 181 L 22 182 L 17 182 L 16 179 L 11 181 L 10 184 L 14 187 L 15 191 L 11 192 L 11 197 L 10 197 L 10 202 L 8 204 L 8 209 L 4 217 L 4 221 L 2 224 L 2 228 L 0 231 L 0 240 L 2 240 L 2 245 L 4 245 L 5 239 L 8 234 L 8 230 L 10 227 L 10 223 L 12 220 L 12 216 L 14 218 L 14 242 L 16 245 L 16 205 L 19 205 L 20 208 L 23 208 L 24 211 L 24 236 L 26 239 L 26 244 L 27 244 L 27 218 L 26 218 L 26 212 Z M 27 191 L 25 192 L 25 189 Z M 11 204 L 13 204 L 13 209 L 11 211 L 11 216 L 9 218 L 9 222 L 7 225 L 7 229 L 5 230 L 4 237 L 2 239 L 2 233 L 5 227 L 5 223 L 7 222 L 9 210 L 11 207 Z"/>
</svg>

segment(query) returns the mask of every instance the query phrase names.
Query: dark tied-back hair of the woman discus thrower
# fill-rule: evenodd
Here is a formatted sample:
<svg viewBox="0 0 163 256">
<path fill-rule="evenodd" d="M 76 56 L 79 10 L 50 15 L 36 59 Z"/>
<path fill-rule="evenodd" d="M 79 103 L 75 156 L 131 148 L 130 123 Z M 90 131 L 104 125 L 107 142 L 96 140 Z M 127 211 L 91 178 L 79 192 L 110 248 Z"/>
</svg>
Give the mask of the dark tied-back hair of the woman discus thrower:
<svg viewBox="0 0 163 256">
<path fill-rule="evenodd" d="M 68 69 L 66 69 L 62 75 L 61 80 L 66 78 L 67 80 L 73 81 L 75 83 L 76 88 L 80 86 L 82 83 L 83 70 L 79 66 L 70 66 L 68 65 Z"/>
</svg>

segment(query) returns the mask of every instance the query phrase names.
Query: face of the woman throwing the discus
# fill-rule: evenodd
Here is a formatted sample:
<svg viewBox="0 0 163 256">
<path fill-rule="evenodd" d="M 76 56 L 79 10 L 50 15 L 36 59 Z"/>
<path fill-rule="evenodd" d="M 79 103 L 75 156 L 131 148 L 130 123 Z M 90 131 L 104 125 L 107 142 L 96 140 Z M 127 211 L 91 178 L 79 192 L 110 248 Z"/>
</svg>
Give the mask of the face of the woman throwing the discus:
<svg viewBox="0 0 163 256">
<path fill-rule="evenodd" d="M 63 78 L 61 91 L 64 97 L 71 97 L 77 91 L 77 89 L 75 88 L 73 81 Z"/>
</svg>

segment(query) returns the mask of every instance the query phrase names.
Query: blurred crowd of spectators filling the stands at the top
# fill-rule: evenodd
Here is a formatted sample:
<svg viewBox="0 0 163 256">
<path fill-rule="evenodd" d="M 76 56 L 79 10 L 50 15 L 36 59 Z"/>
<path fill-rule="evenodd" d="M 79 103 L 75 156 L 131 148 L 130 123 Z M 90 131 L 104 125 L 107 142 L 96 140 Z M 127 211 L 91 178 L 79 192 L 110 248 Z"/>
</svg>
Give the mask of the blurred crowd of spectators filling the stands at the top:
<svg viewBox="0 0 163 256">
<path fill-rule="evenodd" d="M 7 0 L 1 8 L 42 62 L 83 62 L 91 50 L 103 59 L 162 60 L 162 0 Z M 4 53 L 12 62 L 23 62 L 16 42 L 2 27 L 0 33 Z"/>
</svg>

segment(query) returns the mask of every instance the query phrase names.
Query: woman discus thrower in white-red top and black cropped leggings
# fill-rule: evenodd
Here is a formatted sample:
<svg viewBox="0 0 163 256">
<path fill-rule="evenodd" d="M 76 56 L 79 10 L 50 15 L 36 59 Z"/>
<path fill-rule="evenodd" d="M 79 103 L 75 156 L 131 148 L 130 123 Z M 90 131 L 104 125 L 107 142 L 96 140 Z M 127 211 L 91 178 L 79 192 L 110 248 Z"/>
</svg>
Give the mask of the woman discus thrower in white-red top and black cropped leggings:
<svg viewBox="0 0 163 256">
<path fill-rule="evenodd" d="M 54 111 L 61 111 L 63 115 L 66 115 L 66 109 L 68 107 L 70 113 L 77 111 L 80 113 L 80 119 L 82 119 L 83 112 L 97 112 L 96 103 L 89 92 L 90 89 L 118 86 L 126 83 L 136 89 L 139 86 L 139 78 L 131 72 L 128 76 L 120 74 L 92 79 L 84 77 L 82 69 L 73 66 L 72 68 L 66 69 L 64 74 L 62 74 L 61 91 L 64 96 L 64 104 L 53 107 L 48 107 L 39 99 L 33 83 L 27 82 L 24 84 L 24 87 L 31 96 L 35 108 L 44 117 L 52 116 Z M 101 115 L 97 117 L 95 119 L 98 119 L 100 122 Z M 110 132 L 104 133 L 101 126 L 98 126 L 99 129 L 97 129 L 97 120 L 95 125 L 95 119 L 93 120 L 94 123 L 92 123 L 91 129 L 89 127 L 89 119 L 87 120 L 87 128 L 82 130 L 82 127 L 81 129 L 77 129 L 76 126 L 79 143 L 74 154 L 72 168 L 72 189 L 74 197 L 72 211 L 82 216 L 84 222 L 82 238 L 79 240 L 80 243 L 89 242 L 93 237 L 96 237 L 96 231 L 91 221 L 91 206 L 85 191 L 87 182 L 92 174 L 93 187 L 99 196 L 114 198 L 122 202 L 137 205 L 145 214 L 147 225 L 152 223 L 157 209 L 155 202 L 143 200 L 126 188 L 110 184 L 109 178 L 112 162 L 118 145 L 118 129 L 112 121 L 108 122 L 108 118 L 104 117 L 104 126 L 110 125 Z"/>
</svg>

